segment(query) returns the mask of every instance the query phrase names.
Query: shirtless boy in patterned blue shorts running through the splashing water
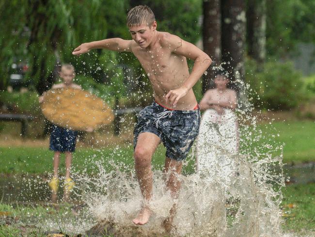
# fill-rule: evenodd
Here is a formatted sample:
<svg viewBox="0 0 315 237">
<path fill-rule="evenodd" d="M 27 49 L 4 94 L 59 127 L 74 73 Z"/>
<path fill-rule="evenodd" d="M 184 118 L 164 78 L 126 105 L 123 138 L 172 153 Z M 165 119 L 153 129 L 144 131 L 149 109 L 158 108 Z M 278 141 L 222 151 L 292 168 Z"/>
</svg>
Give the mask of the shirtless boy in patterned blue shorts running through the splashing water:
<svg viewBox="0 0 315 237">
<path fill-rule="evenodd" d="M 151 158 L 158 144 L 166 147 L 165 172 L 170 173 L 166 186 L 174 198 L 180 183 L 182 160 L 198 134 L 200 112 L 192 86 L 210 66 L 210 57 L 193 44 L 176 35 L 157 31 L 152 10 L 145 5 L 128 12 L 127 26 L 132 40 L 110 38 L 81 44 L 73 51 L 79 55 L 92 49 L 132 52 L 147 73 L 155 102 L 139 114 L 134 131 L 135 170 L 144 199 L 142 210 L 133 220 L 135 224 L 148 222 L 148 207 L 152 197 Z M 186 58 L 194 60 L 189 74 Z M 171 223 L 174 211 L 167 222 Z"/>
</svg>

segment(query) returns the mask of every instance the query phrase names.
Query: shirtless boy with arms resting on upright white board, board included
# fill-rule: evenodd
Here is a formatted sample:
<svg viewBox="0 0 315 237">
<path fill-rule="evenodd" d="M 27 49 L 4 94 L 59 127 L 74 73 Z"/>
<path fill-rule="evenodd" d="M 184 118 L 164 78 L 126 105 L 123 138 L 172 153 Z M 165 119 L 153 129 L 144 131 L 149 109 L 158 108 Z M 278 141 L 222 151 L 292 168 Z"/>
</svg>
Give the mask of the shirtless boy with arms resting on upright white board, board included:
<svg viewBox="0 0 315 237">
<path fill-rule="evenodd" d="M 227 88 L 229 78 L 224 74 L 218 74 L 214 83 L 216 88 L 207 90 L 200 102 L 200 110 L 205 112 L 196 144 L 197 171 L 208 172 L 209 178 L 234 173 L 232 157 L 238 151 L 236 91 Z"/>
</svg>

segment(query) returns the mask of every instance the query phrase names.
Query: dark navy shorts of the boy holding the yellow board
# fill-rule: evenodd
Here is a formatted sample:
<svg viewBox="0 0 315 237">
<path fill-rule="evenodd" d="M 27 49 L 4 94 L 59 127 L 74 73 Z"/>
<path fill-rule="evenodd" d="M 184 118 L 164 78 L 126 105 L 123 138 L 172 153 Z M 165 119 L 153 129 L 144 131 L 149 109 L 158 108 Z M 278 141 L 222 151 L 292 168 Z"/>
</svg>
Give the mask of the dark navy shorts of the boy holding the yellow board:
<svg viewBox="0 0 315 237">
<path fill-rule="evenodd" d="M 49 149 L 55 152 L 74 152 L 78 131 L 52 125 Z"/>
</svg>

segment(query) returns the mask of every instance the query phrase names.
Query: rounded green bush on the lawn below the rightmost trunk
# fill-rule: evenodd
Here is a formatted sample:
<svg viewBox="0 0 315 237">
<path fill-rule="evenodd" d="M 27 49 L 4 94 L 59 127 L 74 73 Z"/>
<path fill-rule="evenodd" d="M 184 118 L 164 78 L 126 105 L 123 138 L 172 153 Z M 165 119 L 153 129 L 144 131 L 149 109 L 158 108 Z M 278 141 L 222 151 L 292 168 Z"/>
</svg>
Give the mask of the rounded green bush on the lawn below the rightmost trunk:
<svg viewBox="0 0 315 237">
<path fill-rule="evenodd" d="M 283 110 L 296 107 L 303 100 L 302 80 L 292 63 L 268 61 L 263 65 L 246 62 L 249 98 L 255 107 Z"/>
</svg>

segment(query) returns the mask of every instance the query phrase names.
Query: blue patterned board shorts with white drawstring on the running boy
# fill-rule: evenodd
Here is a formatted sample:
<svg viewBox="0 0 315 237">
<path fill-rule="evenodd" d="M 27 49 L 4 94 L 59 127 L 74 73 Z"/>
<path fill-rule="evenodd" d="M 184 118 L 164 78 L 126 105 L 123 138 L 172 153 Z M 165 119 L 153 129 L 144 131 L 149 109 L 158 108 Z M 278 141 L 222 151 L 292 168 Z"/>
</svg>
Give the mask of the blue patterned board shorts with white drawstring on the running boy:
<svg viewBox="0 0 315 237">
<path fill-rule="evenodd" d="M 138 115 L 134 130 L 134 148 L 138 136 L 149 132 L 157 135 L 166 148 L 166 156 L 184 160 L 199 132 L 200 110 L 169 110 L 157 102 L 146 106 Z"/>
</svg>

